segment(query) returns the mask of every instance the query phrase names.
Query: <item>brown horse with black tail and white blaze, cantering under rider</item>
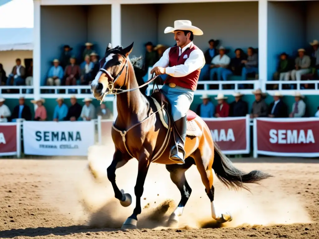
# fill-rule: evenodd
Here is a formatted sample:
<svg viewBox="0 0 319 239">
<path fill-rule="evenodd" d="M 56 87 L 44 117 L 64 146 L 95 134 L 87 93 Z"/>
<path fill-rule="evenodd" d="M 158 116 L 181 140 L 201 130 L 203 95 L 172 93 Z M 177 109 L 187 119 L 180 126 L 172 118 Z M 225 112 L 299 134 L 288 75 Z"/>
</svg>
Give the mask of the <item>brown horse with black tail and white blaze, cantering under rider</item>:
<svg viewBox="0 0 319 239">
<path fill-rule="evenodd" d="M 136 228 L 137 215 L 141 213 L 141 197 L 145 177 L 150 163 L 166 164 L 167 170 L 174 184 L 181 192 L 181 201 L 169 218 L 169 225 L 178 222 L 191 194 L 185 178 L 185 171 L 193 164 L 199 171 L 205 192 L 211 201 L 211 216 L 219 223 L 231 221 L 230 214 L 216 214 L 214 207 L 213 172 L 227 187 L 245 188 L 244 183 L 259 183 L 271 177 L 258 170 L 244 173 L 236 169 L 232 162 L 221 152 L 212 140 L 211 132 L 205 122 L 195 113 L 189 111 L 188 133 L 185 141 L 185 164 L 176 164 L 169 159 L 169 143 L 174 143 L 171 138 L 173 126 L 164 106 L 161 106 L 161 97 L 153 94 L 153 98 L 146 96 L 141 90 L 146 84 L 138 83 L 129 54 L 133 43 L 123 48 L 112 48 L 108 44 L 104 57 L 100 60 L 100 71 L 92 82 L 93 95 L 98 100 L 103 100 L 108 93 L 116 94 L 118 116 L 113 123 L 112 139 L 115 145 L 113 161 L 107 169 L 115 198 L 119 199 L 122 206 L 129 206 L 132 202 L 130 194 L 119 190 L 115 183 L 115 170 L 124 166 L 130 159 L 138 160 L 137 181 L 134 187 L 136 207 L 133 214 L 124 222 L 122 228 Z M 153 79 L 154 80 L 154 79 Z M 158 94 L 160 94 L 158 92 Z M 159 102 L 156 102 L 157 98 Z M 166 120 L 165 120 L 166 119 Z M 173 137 L 173 136 L 172 136 Z M 90 168 L 90 167 L 89 167 Z"/>
</svg>

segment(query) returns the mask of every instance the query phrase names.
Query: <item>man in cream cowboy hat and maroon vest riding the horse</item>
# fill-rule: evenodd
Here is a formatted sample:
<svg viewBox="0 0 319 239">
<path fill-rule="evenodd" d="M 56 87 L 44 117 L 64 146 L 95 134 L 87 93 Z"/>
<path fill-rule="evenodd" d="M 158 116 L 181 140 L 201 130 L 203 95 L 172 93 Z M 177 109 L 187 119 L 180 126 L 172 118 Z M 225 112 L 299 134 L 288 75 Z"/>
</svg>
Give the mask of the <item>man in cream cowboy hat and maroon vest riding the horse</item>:
<svg viewBox="0 0 319 239">
<path fill-rule="evenodd" d="M 169 158 L 185 163 L 186 113 L 194 98 L 200 69 L 205 64 L 204 54 L 194 45 L 193 38 L 194 35 L 203 35 L 203 31 L 192 26 L 188 20 L 177 20 L 174 27 L 167 27 L 164 33 L 174 33 L 177 46 L 164 52 L 153 66 L 151 74 L 168 75 L 161 91 L 172 107 L 174 124 L 181 136 L 175 134 L 175 144 Z"/>
</svg>

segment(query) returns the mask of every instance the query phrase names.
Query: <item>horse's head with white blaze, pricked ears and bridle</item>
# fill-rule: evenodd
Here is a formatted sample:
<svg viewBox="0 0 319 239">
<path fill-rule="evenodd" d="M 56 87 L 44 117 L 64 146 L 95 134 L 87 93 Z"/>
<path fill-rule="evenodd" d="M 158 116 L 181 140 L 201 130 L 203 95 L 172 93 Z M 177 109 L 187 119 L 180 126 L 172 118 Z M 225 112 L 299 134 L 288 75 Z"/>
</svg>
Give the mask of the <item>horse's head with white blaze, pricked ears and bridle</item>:
<svg viewBox="0 0 319 239">
<path fill-rule="evenodd" d="M 91 83 L 93 95 L 98 100 L 113 89 L 120 88 L 126 84 L 128 73 L 128 55 L 132 52 L 133 43 L 123 48 L 117 46 L 112 48 L 111 43 L 106 48 L 104 57 L 100 60 L 100 70 Z"/>
</svg>

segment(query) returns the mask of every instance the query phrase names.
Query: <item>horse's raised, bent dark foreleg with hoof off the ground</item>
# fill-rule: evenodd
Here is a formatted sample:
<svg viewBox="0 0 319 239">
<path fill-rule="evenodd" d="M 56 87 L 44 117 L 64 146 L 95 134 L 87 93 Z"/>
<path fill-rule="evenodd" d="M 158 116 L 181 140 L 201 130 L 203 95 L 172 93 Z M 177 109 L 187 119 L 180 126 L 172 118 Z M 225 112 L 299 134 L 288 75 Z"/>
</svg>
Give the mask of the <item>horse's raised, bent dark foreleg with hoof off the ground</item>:
<svg viewBox="0 0 319 239">
<path fill-rule="evenodd" d="M 121 192 L 120 189 L 117 187 L 115 182 L 115 170 L 124 166 L 129 160 L 130 157 L 122 154 L 120 150 L 115 149 L 112 163 L 107 169 L 108 180 L 112 184 L 115 193 L 115 198 L 120 200 L 122 206 L 130 206 L 132 203 L 132 197 L 128 193 Z"/>
</svg>

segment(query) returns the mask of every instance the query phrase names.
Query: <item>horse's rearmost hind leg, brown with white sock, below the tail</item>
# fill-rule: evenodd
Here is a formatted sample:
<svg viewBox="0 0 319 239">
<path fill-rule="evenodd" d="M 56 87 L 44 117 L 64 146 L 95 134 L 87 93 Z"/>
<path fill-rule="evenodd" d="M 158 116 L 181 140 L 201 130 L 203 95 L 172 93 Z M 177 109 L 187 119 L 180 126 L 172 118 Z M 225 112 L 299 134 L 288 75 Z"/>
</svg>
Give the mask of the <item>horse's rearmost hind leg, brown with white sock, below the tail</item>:
<svg viewBox="0 0 319 239">
<path fill-rule="evenodd" d="M 207 152 L 205 152 L 207 154 Z M 201 155 L 200 151 L 197 150 L 195 153 L 195 162 L 196 167 L 199 171 L 199 174 L 202 178 L 202 182 L 205 186 L 205 192 L 208 198 L 211 200 L 211 217 L 215 219 L 219 223 L 224 223 L 226 221 L 232 221 L 232 216 L 229 213 L 218 214 L 216 213 L 215 205 L 214 205 L 214 194 L 215 188 L 213 186 L 213 172 L 212 172 L 212 163 L 213 163 L 213 155 L 212 158 L 209 158 L 208 155 Z"/>
</svg>

